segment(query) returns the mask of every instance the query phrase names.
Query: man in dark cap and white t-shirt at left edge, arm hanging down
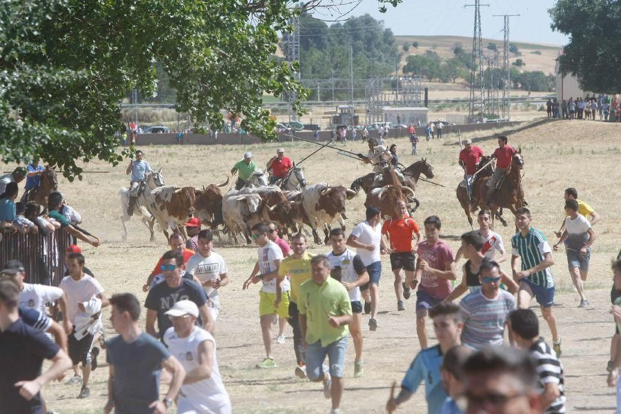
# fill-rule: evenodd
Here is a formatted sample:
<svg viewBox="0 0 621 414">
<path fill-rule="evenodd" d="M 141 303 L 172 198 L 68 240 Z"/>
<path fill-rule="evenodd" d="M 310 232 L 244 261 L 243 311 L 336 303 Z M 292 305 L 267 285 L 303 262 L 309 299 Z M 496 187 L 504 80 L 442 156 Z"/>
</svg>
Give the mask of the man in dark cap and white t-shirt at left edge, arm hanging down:
<svg viewBox="0 0 621 414">
<path fill-rule="evenodd" d="M 67 297 L 61 288 L 41 284 L 24 283 L 26 269 L 19 260 L 9 260 L 4 264 L 1 275 L 6 275 L 17 285 L 19 289 L 19 307 L 34 309 L 46 314 L 48 302 L 58 302 L 58 307 L 63 314 L 63 328 L 69 335 L 73 329 L 67 315 Z"/>
</svg>

